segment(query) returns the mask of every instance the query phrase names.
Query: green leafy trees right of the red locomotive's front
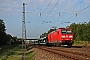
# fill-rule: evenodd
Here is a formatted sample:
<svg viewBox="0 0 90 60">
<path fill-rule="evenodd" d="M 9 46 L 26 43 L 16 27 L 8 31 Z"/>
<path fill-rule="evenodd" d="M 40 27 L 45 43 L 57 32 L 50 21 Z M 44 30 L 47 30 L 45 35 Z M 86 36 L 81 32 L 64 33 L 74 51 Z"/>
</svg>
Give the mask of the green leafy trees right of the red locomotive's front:
<svg viewBox="0 0 90 60">
<path fill-rule="evenodd" d="M 75 40 L 90 40 L 90 22 L 84 22 L 82 24 L 72 23 L 70 27 L 73 29 Z"/>
</svg>

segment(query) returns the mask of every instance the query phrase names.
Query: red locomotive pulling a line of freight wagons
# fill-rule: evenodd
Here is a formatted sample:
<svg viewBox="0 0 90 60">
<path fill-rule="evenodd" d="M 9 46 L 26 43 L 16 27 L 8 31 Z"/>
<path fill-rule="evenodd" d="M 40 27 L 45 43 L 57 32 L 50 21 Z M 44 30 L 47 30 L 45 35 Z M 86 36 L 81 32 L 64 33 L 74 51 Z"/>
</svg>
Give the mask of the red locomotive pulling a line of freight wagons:
<svg viewBox="0 0 90 60">
<path fill-rule="evenodd" d="M 35 42 L 35 44 L 44 44 L 48 46 L 54 45 L 59 47 L 61 45 L 67 45 L 68 47 L 71 47 L 74 43 L 74 33 L 72 28 L 58 28 L 49 33 L 47 37 L 40 38 Z"/>
</svg>

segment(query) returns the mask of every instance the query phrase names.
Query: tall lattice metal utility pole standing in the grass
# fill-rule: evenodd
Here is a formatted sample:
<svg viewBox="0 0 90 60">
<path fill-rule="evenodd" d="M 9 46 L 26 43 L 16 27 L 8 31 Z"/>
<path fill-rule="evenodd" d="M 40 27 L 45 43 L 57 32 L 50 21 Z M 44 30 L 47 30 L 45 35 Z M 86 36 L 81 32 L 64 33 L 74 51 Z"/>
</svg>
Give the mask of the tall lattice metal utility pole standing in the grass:
<svg viewBox="0 0 90 60">
<path fill-rule="evenodd" d="M 25 3 L 23 3 L 23 19 L 22 19 L 22 50 L 24 52 L 23 60 L 25 60 L 26 51 L 26 24 L 25 24 Z M 25 41 L 25 44 L 24 44 Z"/>
</svg>

